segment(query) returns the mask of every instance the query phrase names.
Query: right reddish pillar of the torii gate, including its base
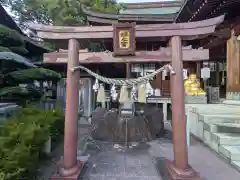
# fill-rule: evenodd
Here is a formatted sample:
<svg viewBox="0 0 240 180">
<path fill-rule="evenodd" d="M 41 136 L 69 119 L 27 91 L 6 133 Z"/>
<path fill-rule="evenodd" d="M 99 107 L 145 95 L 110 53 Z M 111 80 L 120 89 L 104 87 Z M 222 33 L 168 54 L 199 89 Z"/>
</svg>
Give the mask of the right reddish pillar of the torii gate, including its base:
<svg viewBox="0 0 240 180">
<path fill-rule="evenodd" d="M 181 37 L 171 38 L 171 52 L 171 64 L 176 72 L 170 79 L 174 161 L 167 161 L 167 172 L 170 180 L 197 180 L 198 174 L 188 165 Z"/>
</svg>

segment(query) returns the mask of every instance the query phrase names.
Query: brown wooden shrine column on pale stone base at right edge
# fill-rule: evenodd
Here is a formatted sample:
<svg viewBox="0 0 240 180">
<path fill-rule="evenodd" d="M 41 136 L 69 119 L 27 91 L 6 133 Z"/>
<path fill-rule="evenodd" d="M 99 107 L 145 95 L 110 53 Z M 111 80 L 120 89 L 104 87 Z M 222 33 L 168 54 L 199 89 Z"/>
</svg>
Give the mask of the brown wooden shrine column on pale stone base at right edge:
<svg viewBox="0 0 240 180">
<path fill-rule="evenodd" d="M 240 105 L 240 41 L 234 31 L 227 41 L 227 93 L 223 103 Z"/>
</svg>

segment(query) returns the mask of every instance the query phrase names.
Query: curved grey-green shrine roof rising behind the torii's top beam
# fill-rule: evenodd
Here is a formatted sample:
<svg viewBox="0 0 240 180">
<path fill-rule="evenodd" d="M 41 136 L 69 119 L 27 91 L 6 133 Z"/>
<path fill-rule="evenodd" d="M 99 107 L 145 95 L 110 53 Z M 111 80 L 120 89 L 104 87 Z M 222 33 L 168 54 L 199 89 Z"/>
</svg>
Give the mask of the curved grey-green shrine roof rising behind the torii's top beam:
<svg viewBox="0 0 240 180">
<path fill-rule="evenodd" d="M 137 23 L 171 23 L 177 15 L 182 1 L 158 2 L 158 3 L 131 3 L 125 4 L 126 9 L 119 14 L 93 11 L 82 6 L 89 22 L 99 24 L 113 24 L 116 22 Z"/>
</svg>

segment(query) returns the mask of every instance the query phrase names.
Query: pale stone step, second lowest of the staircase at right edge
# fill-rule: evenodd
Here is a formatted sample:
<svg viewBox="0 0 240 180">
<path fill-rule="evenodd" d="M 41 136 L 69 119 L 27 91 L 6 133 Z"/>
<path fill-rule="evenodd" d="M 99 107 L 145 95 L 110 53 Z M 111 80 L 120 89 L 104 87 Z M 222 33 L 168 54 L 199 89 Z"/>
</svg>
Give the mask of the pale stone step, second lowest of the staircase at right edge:
<svg viewBox="0 0 240 180">
<path fill-rule="evenodd" d="M 240 161 L 240 146 L 220 145 L 218 151 L 230 161 Z"/>
</svg>

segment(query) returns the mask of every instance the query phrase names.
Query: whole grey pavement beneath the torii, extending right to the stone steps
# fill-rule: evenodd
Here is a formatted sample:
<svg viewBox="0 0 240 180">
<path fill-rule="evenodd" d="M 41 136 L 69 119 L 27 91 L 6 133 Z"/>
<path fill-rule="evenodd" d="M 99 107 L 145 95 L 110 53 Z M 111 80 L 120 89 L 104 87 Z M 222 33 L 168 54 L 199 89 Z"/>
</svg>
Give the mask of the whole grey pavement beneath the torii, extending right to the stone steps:
<svg viewBox="0 0 240 180">
<path fill-rule="evenodd" d="M 173 159 L 171 134 L 125 152 L 114 144 L 98 142 L 92 147 L 80 180 L 168 180 L 164 172 L 165 158 Z M 240 173 L 209 148 L 193 140 L 189 147 L 189 162 L 204 180 L 239 180 Z"/>
</svg>

